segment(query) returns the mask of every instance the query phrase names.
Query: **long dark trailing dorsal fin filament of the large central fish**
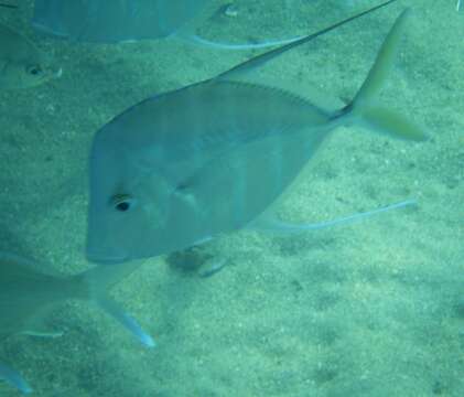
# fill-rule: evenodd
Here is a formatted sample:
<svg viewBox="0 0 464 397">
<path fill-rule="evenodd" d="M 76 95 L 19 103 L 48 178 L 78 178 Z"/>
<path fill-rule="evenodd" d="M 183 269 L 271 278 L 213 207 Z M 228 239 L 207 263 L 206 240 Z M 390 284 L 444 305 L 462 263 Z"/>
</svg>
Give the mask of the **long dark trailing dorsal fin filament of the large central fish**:
<svg viewBox="0 0 464 397">
<path fill-rule="evenodd" d="M 360 17 L 364 17 L 364 15 L 370 13 L 370 12 L 374 12 L 374 11 L 380 9 L 380 8 L 384 8 L 388 4 L 391 4 L 395 1 L 397 1 L 397 0 L 386 1 L 381 4 L 379 4 L 379 6 L 373 7 L 371 9 L 368 9 L 368 10 L 363 11 L 363 12 L 356 14 L 356 15 L 347 18 L 347 19 L 345 19 L 341 22 L 337 22 L 337 23 L 335 23 L 335 24 L 333 24 L 328 28 L 325 28 L 325 29 L 323 29 L 319 32 L 309 34 L 309 35 L 306 35 L 306 36 L 304 36 L 300 40 L 293 41 L 289 44 L 282 45 L 278 49 L 274 49 L 274 50 L 268 51 L 263 54 L 260 54 L 258 56 L 255 56 L 251 60 L 248 60 L 248 61 L 246 61 L 246 62 L 244 62 L 244 63 L 241 63 L 237 66 L 234 66 L 233 68 L 228 69 L 227 72 L 224 72 L 224 73 L 219 74 L 216 78 L 219 78 L 219 79 L 236 79 L 236 78 L 240 77 L 242 74 L 246 74 L 250 71 L 253 71 L 253 69 L 265 65 L 269 61 L 272 61 L 273 58 L 278 57 L 279 55 L 281 55 L 281 54 L 283 54 L 283 53 L 285 53 L 285 52 L 288 52 L 288 51 L 290 51 L 294 47 L 303 45 L 303 44 L 319 37 L 320 35 L 323 35 L 327 32 L 331 32 L 331 31 L 335 30 L 336 28 L 339 28 L 339 26 L 342 26 L 342 25 L 344 25 L 348 22 L 352 22 L 352 21 L 354 21 L 354 20 L 356 20 Z"/>
</svg>

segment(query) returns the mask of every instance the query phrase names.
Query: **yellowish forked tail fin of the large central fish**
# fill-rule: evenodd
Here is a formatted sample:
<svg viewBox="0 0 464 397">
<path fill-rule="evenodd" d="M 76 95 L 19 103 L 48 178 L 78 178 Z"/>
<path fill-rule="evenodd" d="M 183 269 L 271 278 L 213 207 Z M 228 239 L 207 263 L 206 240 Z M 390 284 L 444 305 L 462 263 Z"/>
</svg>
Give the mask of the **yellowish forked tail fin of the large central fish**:
<svg viewBox="0 0 464 397">
<path fill-rule="evenodd" d="M 398 44 L 410 13 L 411 10 L 407 9 L 398 17 L 385 39 L 363 86 L 353 101 L 342 109 L 341 115 L 349 115 L 349 117 L 358 120 L 362 125 L 366 125 L 380 133 L 406 140 L 423 141 L 427 139 L 427 135 L 413 122 L 393 110 L 371 106 L 373 103 L 376 103 L 378 93 L 392 68 L 395 56 L 398 52 Z"/>
</svg>

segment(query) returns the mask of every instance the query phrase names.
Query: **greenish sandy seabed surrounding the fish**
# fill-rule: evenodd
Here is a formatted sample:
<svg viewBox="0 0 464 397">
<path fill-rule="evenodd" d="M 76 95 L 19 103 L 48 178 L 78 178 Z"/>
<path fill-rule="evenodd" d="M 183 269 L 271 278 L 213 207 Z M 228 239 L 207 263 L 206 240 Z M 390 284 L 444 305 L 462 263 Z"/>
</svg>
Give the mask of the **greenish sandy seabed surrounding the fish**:
<svg viewBox="0 0 464 397">
<path fill-rule="evenodd" d="M 289 37 L 377 3 L 236 0 L 237 13 L 218 11 L 197 31 L 237 42 Z M 430 139 L 339 128 L 279 215 L 322 222 L 406 198 L 418 206 L 291 236 L 244 230 L 149 259 L 114 296 L 158 346 L 140 346 L 105 313 L 69 301 L 47 318 L 62 337 L 18 335 L 0 347 L 35 396 L 464 396 L 464 10 L 449 0 L 400 0 L 265 71 L 289 89 L 347 100 L 406 7 L 413 14 L 381 100 Z M 0 248 L 71 275 L 89 266 L 95 132 L 147 97 L 259 51 L 171 39 L 60 41 L 33 32 L 32 9 L 22 1 L 0 10 L 0 21 L 53 54 L 63 76 L 0 93 Z M 201 277 L 201 265 L 217 257 L 227 266 Z M 19 395 L 0 383 L 0 396 Z"/>
</svg>

